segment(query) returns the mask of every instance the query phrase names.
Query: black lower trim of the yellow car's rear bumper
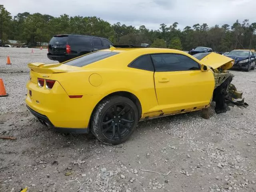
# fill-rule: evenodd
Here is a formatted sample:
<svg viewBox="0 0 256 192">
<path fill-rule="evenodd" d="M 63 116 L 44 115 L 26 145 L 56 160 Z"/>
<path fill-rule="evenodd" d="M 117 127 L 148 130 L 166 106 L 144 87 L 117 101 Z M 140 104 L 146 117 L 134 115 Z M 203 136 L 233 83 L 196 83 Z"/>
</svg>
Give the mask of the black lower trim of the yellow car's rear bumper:
<svg viewBox="0 0 256 192">
<path fill-rule="evenodd" d="M 36 117 L 38 118 L 39 122 L 50 127 L 54 128 L 58 132 L 62 133 L 88 133 L 88 128 L 64 128 L 64 127 L 55 127 L 52 122 L 48 119 L 47 116 L 42 115 L 35 110 L 31 109 L 28 105 L 26 105 L 28 110 Z"/>
</svg>

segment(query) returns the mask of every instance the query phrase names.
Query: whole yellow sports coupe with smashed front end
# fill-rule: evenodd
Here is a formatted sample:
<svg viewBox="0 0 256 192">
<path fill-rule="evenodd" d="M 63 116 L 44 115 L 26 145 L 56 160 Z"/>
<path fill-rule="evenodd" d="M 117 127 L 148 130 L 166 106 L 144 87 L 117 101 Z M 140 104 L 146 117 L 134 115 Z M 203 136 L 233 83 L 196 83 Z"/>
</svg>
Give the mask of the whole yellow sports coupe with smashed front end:
<svg viewBox="0 0 256 192">
<path fill-rule="evenodd" d="M 216 53 L 196 57 L 114 45 L 59 64 L 30 63 L 26 105 L 47 126 L 90 131 L 119 144 L 139 120 L 201 110 L 212 99 L 216 112 L 226 112 L 224 94 L 232 80 L 226 70 L 234 60 Z"/>
</svg>

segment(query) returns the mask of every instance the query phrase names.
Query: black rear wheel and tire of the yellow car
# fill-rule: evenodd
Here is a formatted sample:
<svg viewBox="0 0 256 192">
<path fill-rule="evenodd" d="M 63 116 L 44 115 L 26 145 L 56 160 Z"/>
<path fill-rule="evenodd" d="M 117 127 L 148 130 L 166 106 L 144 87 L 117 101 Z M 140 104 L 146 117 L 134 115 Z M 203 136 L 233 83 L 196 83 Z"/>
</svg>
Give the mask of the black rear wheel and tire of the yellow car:
<svg viewBox="0 0 256 192">
<path fill-rule="evenodd" d="M 127 140 L 138 124 L 138 109 L 134 102 L 122 96 L 103 99 L 92 115 L 90 130 L 98 140 L 120 144 Z"/>
</svg>

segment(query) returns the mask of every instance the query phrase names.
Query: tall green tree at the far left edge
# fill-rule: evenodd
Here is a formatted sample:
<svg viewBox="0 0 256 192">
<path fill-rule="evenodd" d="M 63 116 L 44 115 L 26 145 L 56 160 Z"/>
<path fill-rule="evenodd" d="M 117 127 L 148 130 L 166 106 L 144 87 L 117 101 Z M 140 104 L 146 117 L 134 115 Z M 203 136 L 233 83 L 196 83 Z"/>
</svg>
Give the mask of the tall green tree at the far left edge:
<svg viewBox="0 0 256 192">
<path fill-rule="evenodd" d="M 11 20 L 12 16 L 10 12 L 4 8 L 4 5 L 0 5 L 0 39 L 2 43 L 8 39 L 7 37 L 10 33 Z"/>
</svg>

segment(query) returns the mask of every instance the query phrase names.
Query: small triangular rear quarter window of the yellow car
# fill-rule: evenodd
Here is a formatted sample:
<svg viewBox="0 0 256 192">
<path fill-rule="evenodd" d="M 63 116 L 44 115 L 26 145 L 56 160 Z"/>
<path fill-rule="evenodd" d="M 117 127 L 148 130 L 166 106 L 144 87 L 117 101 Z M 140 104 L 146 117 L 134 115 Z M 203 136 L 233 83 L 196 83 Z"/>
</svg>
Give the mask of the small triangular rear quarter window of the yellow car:
<svg viewBox="0 0 256 192">
<path fill-rule="evenodd" d="M 128 65 L 129 67 L 142 69 L 147 71 L 154 71 L 154 66 L 152 64 L 150 55 L 144 55 L 136 60 L 134 60 L 131 64 Z"/>
</svg>

